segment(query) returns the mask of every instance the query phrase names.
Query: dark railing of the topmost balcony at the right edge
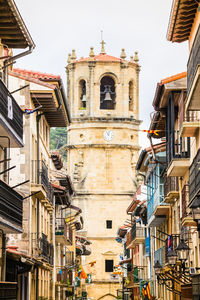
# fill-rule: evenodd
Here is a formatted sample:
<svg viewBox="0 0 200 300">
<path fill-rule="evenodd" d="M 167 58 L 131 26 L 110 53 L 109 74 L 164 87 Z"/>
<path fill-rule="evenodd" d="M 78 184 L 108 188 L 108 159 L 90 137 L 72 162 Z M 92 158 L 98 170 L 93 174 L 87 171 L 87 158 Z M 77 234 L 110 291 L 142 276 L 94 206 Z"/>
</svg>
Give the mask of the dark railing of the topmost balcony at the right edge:
<svg viewBox="0 0 200 300">
<path fill-rule="evenodd" d="M 197 68 L 200 64 L 200 26 L 196 33 L 196 37 L 194 43 L 192 45 L 192 49 L 190 51 L 190 56 L 187 63 L 187 90 L 188 92 L 191 89 Z"/>
</svg>

